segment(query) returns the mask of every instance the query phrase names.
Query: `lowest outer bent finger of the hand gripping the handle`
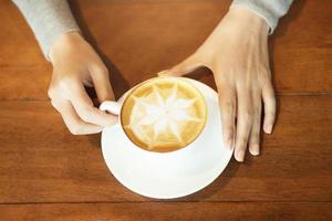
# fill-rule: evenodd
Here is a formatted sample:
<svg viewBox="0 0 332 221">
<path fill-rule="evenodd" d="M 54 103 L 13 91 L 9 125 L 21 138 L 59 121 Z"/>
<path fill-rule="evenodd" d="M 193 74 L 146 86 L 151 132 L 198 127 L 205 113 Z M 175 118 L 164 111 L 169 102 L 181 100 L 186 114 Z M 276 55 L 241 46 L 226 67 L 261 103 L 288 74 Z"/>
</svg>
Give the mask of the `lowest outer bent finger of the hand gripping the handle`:
<svg viewBox="0 0 332 221">
<path fill-rule="evenodd" d="M 103 127 L 83 122 L 69 101 L 52 99 L 54 108 L 61 114 L 65 126 L 73 135 L 100 133 Z"/>
</svg>

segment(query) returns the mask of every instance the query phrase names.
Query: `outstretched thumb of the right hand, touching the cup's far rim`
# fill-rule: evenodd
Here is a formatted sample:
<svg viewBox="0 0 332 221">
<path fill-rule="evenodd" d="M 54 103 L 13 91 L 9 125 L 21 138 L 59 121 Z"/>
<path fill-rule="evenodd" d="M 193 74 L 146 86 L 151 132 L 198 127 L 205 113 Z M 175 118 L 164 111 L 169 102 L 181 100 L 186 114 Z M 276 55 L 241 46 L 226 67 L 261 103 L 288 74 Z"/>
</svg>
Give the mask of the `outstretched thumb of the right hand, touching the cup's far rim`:
<svg viewBox="0 0 332 221">
<path fill-rule="evenodd" d="M 158 75 L 159 76 L 183 76 L 185 74 L 188 74 L 197 70 L 203 65 L 204 64 L 197 59 L 197 55 L 193 54 L 181 63 L 175 65 L 174 67 L 159 72 Z"/>
</svg>

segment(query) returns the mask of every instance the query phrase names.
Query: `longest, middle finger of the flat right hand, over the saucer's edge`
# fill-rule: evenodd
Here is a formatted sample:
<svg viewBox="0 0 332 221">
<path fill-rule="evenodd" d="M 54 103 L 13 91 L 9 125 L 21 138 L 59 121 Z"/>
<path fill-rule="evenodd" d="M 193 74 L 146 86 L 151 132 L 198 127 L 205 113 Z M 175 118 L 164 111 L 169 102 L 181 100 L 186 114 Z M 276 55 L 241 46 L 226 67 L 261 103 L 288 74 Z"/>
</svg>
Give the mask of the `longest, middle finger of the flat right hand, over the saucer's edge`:
<svg viewBox="0 0 332 221">
<path fill-rule="evenodd" d="M 249 133 L 252 126 L 252 103 L 248 90 L 240 88 L 237 91 L 238 109 L 237 109 L 237 134 L 235 158 L 238 161 L 243 161 Z"/>
</svg>

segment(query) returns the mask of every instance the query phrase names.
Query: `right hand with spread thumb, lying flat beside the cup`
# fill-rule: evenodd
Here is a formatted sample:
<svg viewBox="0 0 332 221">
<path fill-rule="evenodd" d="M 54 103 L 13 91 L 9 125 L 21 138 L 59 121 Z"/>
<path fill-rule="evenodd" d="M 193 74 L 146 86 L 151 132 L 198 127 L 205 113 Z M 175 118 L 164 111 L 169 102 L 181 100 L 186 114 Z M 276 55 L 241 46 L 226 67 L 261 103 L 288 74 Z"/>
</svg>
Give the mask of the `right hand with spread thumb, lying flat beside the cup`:
<svg viewBox="0 0 332 221">
<path fill-rule="evenodd" d="M 200 66 L 212 71 L 219 94 L 224 143 L 229 148 L 235 146 L 238 161 L 243 161 L 247 146 L 251 155 L 259 155 L 262 101 L 263 130 L 271 134 L 274 124 L 268 31 L 263 19 L 234 7 L 193 55 L 159 74 L 180 76 Z"/>
</svg>

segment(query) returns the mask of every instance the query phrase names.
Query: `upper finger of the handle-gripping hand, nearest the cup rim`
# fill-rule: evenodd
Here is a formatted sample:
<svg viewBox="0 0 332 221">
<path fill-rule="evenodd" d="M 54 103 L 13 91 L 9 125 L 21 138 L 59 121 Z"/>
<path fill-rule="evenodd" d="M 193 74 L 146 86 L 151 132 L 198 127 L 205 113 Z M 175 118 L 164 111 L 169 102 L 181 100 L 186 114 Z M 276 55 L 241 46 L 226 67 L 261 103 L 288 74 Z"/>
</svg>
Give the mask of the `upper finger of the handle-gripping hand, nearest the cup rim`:
<svg viewBox="0 0 332 221">
<path fill-rule="evenodd" d="M 101 64 L 90 67 L 91 78 L 98 97 L 98 102 L 114 101 L 107 69 Z"/>
</svg>

